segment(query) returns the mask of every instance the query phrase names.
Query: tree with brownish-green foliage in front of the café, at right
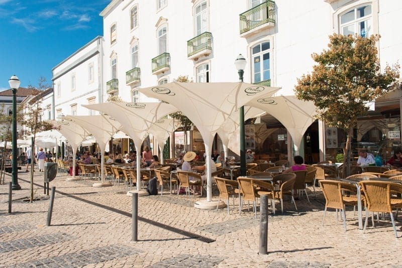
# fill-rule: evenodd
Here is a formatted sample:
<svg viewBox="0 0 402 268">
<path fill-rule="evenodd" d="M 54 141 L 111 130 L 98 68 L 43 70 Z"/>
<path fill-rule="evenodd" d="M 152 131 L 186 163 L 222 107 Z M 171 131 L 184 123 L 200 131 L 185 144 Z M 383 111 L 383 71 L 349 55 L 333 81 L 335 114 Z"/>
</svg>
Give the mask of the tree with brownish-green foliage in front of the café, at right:
<svg viewBox="0 0 402 268">
<path fill-rule="evenodd" d="M 381 71 L 377 35 L 363 38 L 334 34 L 329 38 L 328 50 L 312 54 L 317 62 L 313 72 L 297 79 L 295 95 L 314 101 L 318 107 L 317 118 L 345 130 L 348 136 L 343 161 L 350 167 L 350 146 L 357 117 L 367 114 L 367 102 L 392 89 L 399 77 L 399 65 L 386 64 Z"/>
</svg>

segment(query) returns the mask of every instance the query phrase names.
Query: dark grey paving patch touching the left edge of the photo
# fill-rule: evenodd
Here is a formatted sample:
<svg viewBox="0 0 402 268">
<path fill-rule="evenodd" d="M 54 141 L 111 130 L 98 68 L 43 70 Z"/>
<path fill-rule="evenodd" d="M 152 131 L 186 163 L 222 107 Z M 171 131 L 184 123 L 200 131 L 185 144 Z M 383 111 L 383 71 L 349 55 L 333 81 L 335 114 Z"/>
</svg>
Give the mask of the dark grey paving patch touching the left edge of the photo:
<svg viewBox="0 0 402 268">
<path fill-rule="evenodd" d="M 25 249 L 36 246 L 43 246 L 49 244 L 55 244 L 59 242 L 68 241 L 75 239 L 73 236 L 68 234 L 46 234 L 42 236 L 23 238 L 18 240 L 13 240 L 10 242 L 0 242 L 0 253 Z"/>
</svg>

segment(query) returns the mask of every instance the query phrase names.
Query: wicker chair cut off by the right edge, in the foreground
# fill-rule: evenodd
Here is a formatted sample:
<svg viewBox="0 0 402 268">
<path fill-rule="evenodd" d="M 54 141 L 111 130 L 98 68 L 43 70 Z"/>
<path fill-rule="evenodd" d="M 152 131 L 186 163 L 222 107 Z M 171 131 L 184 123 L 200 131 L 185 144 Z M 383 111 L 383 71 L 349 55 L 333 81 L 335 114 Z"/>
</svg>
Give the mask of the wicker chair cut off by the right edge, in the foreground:
<svg viewBox="0 0 402 268">
<path fill-rule="evenodd" d="M 384 212 L 389 213 L 395 237 L 398 237 L 395 222 L 393 220 L 392 209 L 402 208 L 402 199 L 392 198 L 391 192 L 402 193 L 402 185 L 383 181 L 361 181 L 359 182 L 359 185 L 361 186 L 367 201 L 366 220 L 364 221 L 363 231 L 366 230 L 369 211 Z"/>
</svg>

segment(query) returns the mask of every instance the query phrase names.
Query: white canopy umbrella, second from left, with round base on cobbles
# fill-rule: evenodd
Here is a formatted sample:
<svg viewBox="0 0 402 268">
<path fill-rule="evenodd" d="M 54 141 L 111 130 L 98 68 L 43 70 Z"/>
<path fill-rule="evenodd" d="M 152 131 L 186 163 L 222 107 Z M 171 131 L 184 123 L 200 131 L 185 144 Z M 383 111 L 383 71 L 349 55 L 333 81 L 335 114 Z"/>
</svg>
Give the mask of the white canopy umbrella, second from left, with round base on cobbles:
<svg viewBox="0 0 402 268">
<path fill-rule="evenodd" d="M 115 118 L 109 115 L 67 115 L 64 116 L 65 120 L 71 120 L 82 128 L 86 129 L 89 133 L 95 137 L 96 142 L 99 144 L 100 150 L 100 163 L 101 171 L 100 178 L 101 183 L 94 183 L 94 187 L 110 186 L 111 183 L 105 182 L 105 147 L 106 143 L 111 139 L 114 133 L 116 133 L 122 127 L 122 124 Z"/>
</svg>

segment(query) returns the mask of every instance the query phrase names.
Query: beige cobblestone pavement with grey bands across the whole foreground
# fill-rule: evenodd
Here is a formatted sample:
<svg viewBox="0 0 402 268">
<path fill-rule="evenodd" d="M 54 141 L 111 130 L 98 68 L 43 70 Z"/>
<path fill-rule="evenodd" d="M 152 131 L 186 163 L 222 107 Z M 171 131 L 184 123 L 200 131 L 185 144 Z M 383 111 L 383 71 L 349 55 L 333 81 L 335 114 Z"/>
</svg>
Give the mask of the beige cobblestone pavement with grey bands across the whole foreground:
<svg viewBox="0 0 402 268">
<path fill-rule="evenodd" d="M 43 173 L 34 176 L 35 198 L 25 201 L 29 177 L 19 173 L 22 190 L 13 192 L 8 213 L 8 182 L 0 185 L 0 266 L 4 267 L 402 267 L 402 238 L 395 238 L 387 219 L 363 233 L 348 210 L 347 231 L 327 212 L 325 200 L 308 189 L 285 213 L 269 214 L 268 254 L 258 254 L 259 219 L 247 204 L 201 210 L 198 197 L 144 196 L 138 202 L 138 241 L 131 241 L 132 198 L 124 185 L 92 187 L 95 181 L 65 181 L 57 176 L 51 225 L 46 226 L 49 198 Z M 213 199 L 216 199 L 214 196 Z M 232 203 L 232 202 L 231 202 Z M 279 208 L 279 210 L 278 210 Z M 398 221 L 399 220 L 399 221 Z M 396 220 L 402 236 L 400 216 Z"/>
</svg>

